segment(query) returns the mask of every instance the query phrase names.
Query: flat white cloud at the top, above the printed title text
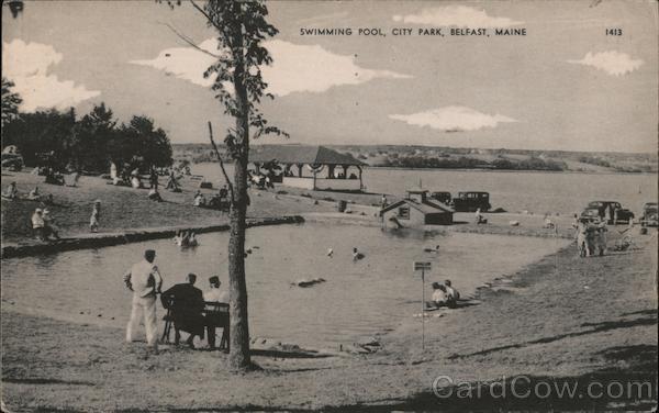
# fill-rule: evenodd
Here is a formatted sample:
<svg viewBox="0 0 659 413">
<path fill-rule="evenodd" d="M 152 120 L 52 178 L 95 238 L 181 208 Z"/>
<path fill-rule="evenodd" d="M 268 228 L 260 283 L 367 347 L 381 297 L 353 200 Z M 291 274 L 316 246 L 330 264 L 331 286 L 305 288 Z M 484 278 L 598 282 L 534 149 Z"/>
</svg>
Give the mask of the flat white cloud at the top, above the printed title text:
<svg viewBox="0 0 659 413">
<path fill-rule="evenodd" d="M 476 9 L 467 5 L 445 5 L 439 8 L 428 8 L 417 14 L 394 15 L 393 21 L 427 24 L 436 26 L 456 26 L 456 27 L 510 27 L 524 24 L 509 18 L 493 18 L 488 15 L 483 9 Z"/>
</svg>

